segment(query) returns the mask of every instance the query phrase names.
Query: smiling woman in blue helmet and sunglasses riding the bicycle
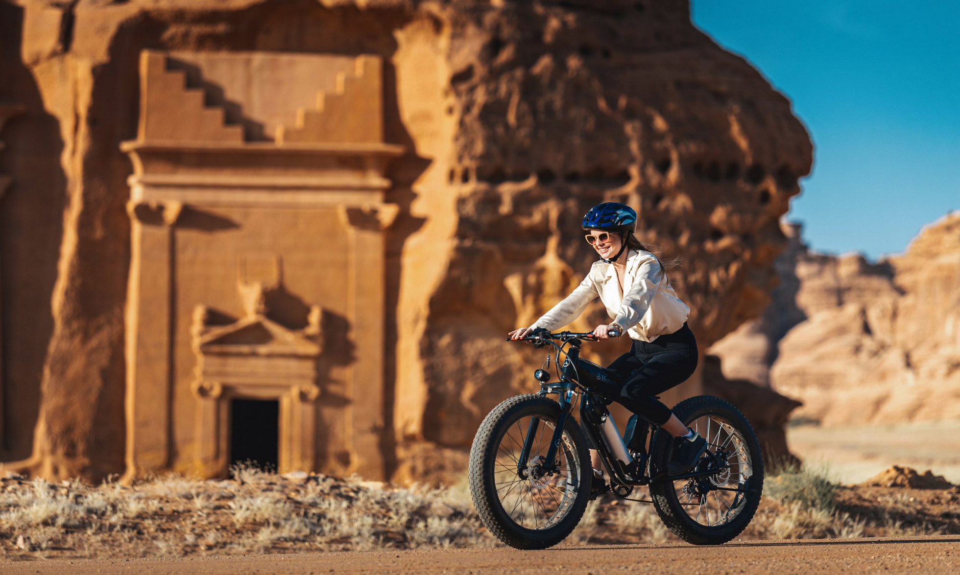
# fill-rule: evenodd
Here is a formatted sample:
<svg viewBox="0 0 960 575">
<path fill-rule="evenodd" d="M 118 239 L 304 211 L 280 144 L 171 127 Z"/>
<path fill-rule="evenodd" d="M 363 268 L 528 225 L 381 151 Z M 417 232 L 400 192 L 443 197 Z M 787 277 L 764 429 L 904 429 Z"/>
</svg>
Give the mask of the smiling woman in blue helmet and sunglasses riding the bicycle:
<svg viewBox="0 0 960 575">
<path fill-rule="evenodd" d="M 636 212 L 625 204 L 609 202 L 592 207 L 584 216 L 583 228 L 600 261 L 593 263 L 572 294 L 530 327 L 511 331 L 510 337 L 522 338 L 539 327 L 551 331 L 563 327 L 599 296 L 613 321 L 593 329 L 597 339 L 610 339 L 615 330 L 617 336 L 627 333 L 634 340 L 630 351 L 607 368 L 621 386 L 619 395 L 612 399 L 675 438 L 667 469 L 674 475 L 696 465 L 707 450 L 707 441 L 654 395 L 680 385 L 696 370 L 697 342 L 686 325 L 690 308 L 677 298 L 660 259 L 636 239 L 635 227 Z M 602 482 L 600 456 L 595 449 L 590 449 L 590 463 Z"/>
</svg>

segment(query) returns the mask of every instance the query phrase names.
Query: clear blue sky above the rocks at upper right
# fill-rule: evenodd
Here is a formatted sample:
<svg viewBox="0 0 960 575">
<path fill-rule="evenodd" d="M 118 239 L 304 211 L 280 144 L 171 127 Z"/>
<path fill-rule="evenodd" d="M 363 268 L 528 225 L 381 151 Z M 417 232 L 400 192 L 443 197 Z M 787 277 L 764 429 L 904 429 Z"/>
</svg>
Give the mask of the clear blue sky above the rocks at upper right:
<svg viewBox="0 0 960 575">
<path fill-rule="evenodd" d="M 793 101 L 813 173 L 789 219 L 819 252 L 902 252 L 960 209 L 960 2 L 692 0 Z"/>
</svg>

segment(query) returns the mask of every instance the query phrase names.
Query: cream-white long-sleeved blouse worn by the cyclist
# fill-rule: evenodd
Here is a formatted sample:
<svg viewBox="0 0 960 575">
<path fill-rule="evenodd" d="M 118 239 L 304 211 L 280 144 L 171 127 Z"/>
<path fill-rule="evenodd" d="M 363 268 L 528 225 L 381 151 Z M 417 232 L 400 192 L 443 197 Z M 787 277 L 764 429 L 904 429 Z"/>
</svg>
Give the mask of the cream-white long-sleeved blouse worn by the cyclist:
<svg viewBox="0 0 960 575">
<path fill-rule="evenodd" d="M 631 250 L 627 257 L 627 293 L 620 289 L 613 264 L 595 261 L 587 277 L 573 293 L 554 305 L 531 329 L 553 331 L 580 317 L 587 304 L 597 296 L 607 307 L 614 323 L 627 328 L 627 334 L 641 342 L 652 342 L 664 333 L 684 326 L 690 308 L 677 297 L 665 278 L 660 260 L 650 252 Z"/>
</svg>

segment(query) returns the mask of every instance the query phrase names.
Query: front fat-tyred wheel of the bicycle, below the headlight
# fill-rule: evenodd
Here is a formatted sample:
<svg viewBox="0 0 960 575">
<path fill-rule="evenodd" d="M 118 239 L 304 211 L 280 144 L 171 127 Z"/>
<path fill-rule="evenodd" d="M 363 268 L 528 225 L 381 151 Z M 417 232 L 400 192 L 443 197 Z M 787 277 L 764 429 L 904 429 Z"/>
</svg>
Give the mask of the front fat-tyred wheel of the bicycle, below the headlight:
<svg viewBox="0 0 960 575">
<path fill-rule="evenodd" d="M 542 395 L 517 395 L 493 408 L 470 447 L 473 505 L 497 539 L 517 549 L 544 549 L 570 535 L 587 509 L 590 472 L 587 442 L 573 418 L 546 468 L 547 449 L 560 405 Z M 527 435 L 531 448 L 520 452 Z"/>
</svg>

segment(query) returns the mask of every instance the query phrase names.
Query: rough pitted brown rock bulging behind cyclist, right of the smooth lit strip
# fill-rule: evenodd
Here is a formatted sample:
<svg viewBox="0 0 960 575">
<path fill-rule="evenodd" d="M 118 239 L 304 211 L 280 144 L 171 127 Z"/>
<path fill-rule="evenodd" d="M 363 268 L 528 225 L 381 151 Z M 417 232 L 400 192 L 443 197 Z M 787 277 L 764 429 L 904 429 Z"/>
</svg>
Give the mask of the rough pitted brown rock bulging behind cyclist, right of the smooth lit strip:
<svg viewBox="0 0 960 575">
<path fill-rule="evenodd" d="M 640 237 L 684 257 L 670 276 L 704 348 L 767 301 L 778 219 L 810 165 L 803 126 L 690 24 L 685 2 L 596 6 L 516 3 L 453 20 L 456 224 L 418 318 L 409 360 L 422 377 L 409 382 L 421 391 L 405 393 L 420 403 L 398 416 L 405 438 L 466 447 L 493 405 L 530 389 L 544 354 L 503 334 L 586 274 L 595 256 L 579 222 L 592 204 L 635 206 Z M 605 318 L 593 305 L 573 327 Z M 609 362 L 625 345 L 588 352 Z M 697 379 L 667 401 L 699 393 Z"/>
</svg>

